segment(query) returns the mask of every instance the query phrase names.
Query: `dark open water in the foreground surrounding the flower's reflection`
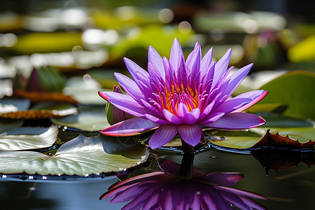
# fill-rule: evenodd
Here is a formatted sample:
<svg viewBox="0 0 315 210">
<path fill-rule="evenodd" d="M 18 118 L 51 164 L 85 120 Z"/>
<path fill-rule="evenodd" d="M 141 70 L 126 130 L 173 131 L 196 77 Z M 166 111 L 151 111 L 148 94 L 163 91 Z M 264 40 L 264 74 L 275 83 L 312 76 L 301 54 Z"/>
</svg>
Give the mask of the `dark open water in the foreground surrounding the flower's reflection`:
<svg viewBox="0 0 315 210">
<path fill-rule="evenodd" d="M 182 155 L 161 151 L 163 157 L 181 162 Z M 228 153 L 214 148 L 195 156 L 195 167 L 212 172 L 241 172 L 245 178 L 234 187 L 265 195 L 258 200 L 267 209 L 315 209 L 315 166 L 300 163 L 283 170 L 269 171 L 251 155 Z M 0 178 L 1 179 L 1 178 Z M 121 209 L 124 204 L 108 204 L 99 196 L 116 182 L 116 177 L 80 179 L 47 183 L 27 181 L 0 182 L 0 209 Z"/>
</svg>

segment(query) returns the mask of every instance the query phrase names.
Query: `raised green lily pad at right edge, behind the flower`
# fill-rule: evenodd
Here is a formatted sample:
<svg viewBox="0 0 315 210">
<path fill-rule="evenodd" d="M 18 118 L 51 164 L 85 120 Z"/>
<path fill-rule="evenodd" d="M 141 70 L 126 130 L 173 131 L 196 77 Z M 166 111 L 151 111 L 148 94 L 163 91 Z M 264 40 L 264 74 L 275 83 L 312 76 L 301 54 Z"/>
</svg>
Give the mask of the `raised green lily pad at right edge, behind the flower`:
<svg viewBox="0 0 315 210">
<path fill-rule="evenodd" d="M 269 94 L 258 104 L 288 106 L 283 115 L 315 120 L 315 73 L 291 71 L 260 87 Z"/>
</svg>

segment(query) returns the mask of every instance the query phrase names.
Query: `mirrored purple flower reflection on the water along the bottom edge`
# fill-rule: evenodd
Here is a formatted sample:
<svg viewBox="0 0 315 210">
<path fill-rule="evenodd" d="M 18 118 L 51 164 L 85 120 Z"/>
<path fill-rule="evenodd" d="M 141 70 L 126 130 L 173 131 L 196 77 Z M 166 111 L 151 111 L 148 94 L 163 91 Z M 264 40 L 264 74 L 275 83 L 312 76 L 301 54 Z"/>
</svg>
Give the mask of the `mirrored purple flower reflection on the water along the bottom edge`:
<svg viewBox="0 0 315 210">
<path fill-rule="evenodd" d="M 265 209 L 252 199 L 261 195 L 230 188 L 243 179 L 239 173 L 206 174 L 194 168 L 192 178 L 179 176 L 180 166 L 163 160 L 164 172 L 134 176 L 113 184 L 100 199 L 127 202 L 123 209 Z M 175 173 L 175 174 L 173 174 Z"/>
</svg>

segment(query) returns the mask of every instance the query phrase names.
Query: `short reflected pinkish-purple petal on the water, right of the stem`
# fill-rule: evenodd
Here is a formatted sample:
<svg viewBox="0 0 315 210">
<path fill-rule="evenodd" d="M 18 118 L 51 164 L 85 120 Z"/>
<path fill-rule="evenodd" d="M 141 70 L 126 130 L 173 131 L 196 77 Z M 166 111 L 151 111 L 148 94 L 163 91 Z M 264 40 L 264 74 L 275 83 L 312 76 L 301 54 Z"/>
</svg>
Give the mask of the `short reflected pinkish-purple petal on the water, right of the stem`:
<svg viewBox="0 0 315 210">
<path fill-rule="evenodd" d="M 244 178 L 240 173 L 214 173 L 207 174 L 206 181 L 217 186 L 234 186 L 235 183 Z"/>
</svg>

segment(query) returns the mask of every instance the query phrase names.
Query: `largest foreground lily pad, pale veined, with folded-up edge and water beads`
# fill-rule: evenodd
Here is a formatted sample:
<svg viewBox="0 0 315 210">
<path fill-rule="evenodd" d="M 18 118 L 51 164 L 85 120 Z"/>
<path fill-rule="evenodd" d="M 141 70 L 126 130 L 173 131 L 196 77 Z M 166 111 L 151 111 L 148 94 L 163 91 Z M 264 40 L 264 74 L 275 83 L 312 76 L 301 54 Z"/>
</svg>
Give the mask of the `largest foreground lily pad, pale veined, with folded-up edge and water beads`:
<svg viewBox="0 0 315 210">
<path fill-rule="evenodd" d="M 140 165 L 148 158 L 148 148 L 141 144 L 123 145 L 117 139 L 82 134 L 66 142 L 53 156 L 31 151 L 0 152 L 0 173 L 78 175 L 121 172 Z"/>
</svg>

